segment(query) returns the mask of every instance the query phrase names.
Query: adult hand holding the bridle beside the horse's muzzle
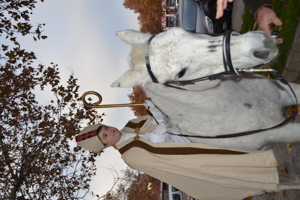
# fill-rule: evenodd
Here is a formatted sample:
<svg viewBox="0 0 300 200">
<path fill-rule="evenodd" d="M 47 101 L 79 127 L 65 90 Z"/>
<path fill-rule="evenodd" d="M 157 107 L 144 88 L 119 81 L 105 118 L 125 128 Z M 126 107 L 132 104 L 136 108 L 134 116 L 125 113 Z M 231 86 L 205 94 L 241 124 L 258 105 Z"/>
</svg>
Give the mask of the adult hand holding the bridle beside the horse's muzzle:
<svg viewBox="0 0 300 200">
<path fill-rule="evenodd" d="M 276 26 L 281 26 L 281 20 L 276 16 L 275 12 L 268 7 L 259 8 L 256 11 L 256 19 L 258 22 L 258 27 L 260 30 L 264 31 L 267 35 L 271 35 L 271 27 L 270 24 L 273 23 Z M 283 42 L 283 38 L 276 38 L 276 43 L 281 44 Z"/>
</svg>

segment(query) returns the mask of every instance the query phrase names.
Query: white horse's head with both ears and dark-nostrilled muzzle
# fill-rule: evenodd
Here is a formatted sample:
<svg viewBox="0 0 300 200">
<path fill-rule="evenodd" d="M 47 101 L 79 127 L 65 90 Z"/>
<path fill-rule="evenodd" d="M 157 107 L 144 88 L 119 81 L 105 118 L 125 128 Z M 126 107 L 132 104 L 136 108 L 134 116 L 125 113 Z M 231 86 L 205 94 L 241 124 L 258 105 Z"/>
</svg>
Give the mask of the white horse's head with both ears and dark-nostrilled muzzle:
<svg viewBox="0 0 300 200">
<path fill-rule="evenodd" d="M 145 57 L 149 54 L 151 70 L 159 83 L 189 80 L 224 71 L 223 36 L 212 37 L 172 28 L 158 34 L 147 45 L 150 34 L 133 30 L 116 32 L 122 41 L 132 45 L 131 69 L 111 86 L 132 87 L 152 81 Z M 234 68 L 251 68 L 273 59 L 278 49 L 275 39 L 264 32 L 232 35 L 230 55 Z"/>
</svg>

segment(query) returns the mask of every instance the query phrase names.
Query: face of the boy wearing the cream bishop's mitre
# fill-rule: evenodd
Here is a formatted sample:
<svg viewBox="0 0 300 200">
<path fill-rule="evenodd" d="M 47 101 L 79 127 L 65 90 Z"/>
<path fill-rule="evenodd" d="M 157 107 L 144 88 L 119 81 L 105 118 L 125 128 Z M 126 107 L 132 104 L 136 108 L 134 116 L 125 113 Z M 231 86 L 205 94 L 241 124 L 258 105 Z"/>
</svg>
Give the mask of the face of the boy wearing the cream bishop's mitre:
<svg viewBox="0 0 300 200">
<path fill-rule="evenodd" d="M 102 143 L 106 144 L 106 147 L 110 147 L 113 144 L 117 144 L 121 139 L 122 133 L 111 126 L 103 126 L 98 133 L 98 137 Z"/>
</svg>

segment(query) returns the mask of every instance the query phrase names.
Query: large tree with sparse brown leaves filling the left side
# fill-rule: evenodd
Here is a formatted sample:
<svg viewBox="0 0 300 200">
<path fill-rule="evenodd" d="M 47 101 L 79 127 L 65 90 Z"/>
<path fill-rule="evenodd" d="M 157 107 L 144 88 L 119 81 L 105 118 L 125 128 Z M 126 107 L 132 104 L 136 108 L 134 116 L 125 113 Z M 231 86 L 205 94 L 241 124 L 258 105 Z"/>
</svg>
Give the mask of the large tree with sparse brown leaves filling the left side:
<svg viewBox="0 0 300 200">
<path fill-rule="evenodd" d="M 43 0 L 41 0 L 43 2 Z M 29 23 L 34 0 L 0 0 L 0 195 L 6 199 L 79 199 L 90 191 L 95 157 L 76 146 L 74 135 L 102 121 L 80 102 L 73 72 L 60 83 L 58 65 L 35 65 L 35 53 L 21 48 L 16 34 L 41 35 Z M 44 25 L 43 25 L 44 26 Z M 35 65 L 35 66 L 34 66 Z M 45 105 L 37 90 L 49 90 Z"/>
</svg>

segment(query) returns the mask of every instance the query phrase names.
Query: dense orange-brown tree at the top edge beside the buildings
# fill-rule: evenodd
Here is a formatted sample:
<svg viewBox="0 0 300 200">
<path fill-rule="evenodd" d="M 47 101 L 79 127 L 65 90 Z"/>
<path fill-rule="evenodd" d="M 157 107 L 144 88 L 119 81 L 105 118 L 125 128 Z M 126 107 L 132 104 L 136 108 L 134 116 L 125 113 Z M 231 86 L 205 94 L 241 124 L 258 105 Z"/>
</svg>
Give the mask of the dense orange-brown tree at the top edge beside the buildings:
<svg viewBox="0 0 300 200">
<path fill-rule="evenodd" d="M 135 8 L 134 13 L 139 14 L 137 19 L 141 32 L 156 35 L 164 29 L 162 22 L 165 21 L 167 9 L 165 0 L 124 0 L 123 5 L 125 8 Z"/>
</svg>

